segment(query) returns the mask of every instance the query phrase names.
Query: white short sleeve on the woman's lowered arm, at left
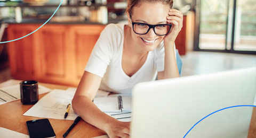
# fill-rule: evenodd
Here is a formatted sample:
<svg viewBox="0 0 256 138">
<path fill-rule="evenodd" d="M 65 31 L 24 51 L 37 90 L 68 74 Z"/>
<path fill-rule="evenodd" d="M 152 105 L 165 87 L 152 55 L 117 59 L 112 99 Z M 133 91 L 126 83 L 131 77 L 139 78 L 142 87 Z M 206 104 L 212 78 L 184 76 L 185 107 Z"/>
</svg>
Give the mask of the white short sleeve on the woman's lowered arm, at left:
<svg viewBox="0 0 256 138">
<path fill-rule="evenodd" d="M 113 45 L 118 39 L 117 36 L 115 24 L 108 24 L 103 29 L 85 66 L 85 71 L 103 77 L 113 57 Z"/>
</svg>

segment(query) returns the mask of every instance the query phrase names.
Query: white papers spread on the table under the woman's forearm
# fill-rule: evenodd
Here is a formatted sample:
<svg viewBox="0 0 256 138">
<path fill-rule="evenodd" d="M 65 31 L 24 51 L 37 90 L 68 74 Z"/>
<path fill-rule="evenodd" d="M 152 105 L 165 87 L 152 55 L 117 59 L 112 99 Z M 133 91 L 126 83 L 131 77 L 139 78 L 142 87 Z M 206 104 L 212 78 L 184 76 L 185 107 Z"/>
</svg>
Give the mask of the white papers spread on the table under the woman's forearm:
<svg viewBox="0 0 256 138">
<path fill-rule="evenodd" d="M 67 105 L 71 103 L 76 88 L 67 90 L 54 89 L 41 98 L 31 107 L 24 116 L 34 116 L 42 118 L 65 119 Z M 131 121 L 131 95 L 121 95 L 123 100 L 123 111 L 118 109 L 118 98 L 120 94 L 113 94 L 108 97 L 109 92 L 98 90 L 93 102 L 98 108 L 118 120 L 123 122 Z M 67 120 L 75 120 L 77 114 L 72 106 L 70 107 Z"/>
</svg>

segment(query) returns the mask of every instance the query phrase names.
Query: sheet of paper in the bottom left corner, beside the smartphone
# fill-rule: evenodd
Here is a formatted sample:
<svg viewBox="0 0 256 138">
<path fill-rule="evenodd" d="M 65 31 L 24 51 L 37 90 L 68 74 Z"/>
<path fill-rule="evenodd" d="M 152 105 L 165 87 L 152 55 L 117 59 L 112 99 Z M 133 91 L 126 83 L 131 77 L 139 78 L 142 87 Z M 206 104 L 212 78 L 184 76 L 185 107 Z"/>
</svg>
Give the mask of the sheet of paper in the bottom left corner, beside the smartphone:
<svg viewBox="0 0 256 138">
<path fill-rule="evenodd" d="M 0 127 L 0 138 L 13 138 L 13 137 L 19 137 L 19 138 L 29 138 L 28 135 L 16 132 L 16 131 L 12 131 L 12 130 L 8 130 L 7 128 L 3 128 Z"/>
</svg>

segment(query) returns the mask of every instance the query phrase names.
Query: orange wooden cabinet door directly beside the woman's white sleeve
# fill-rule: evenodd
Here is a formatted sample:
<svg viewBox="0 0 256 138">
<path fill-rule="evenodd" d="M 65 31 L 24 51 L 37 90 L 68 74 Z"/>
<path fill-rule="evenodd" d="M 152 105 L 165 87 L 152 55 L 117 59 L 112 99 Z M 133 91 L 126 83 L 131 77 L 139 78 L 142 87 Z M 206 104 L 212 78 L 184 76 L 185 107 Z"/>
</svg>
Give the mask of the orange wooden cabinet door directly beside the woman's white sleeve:
<svg viewBox="0 0 256 138">
<path fill-rule="evenodd" d="M 91 51 L 104 28 L 105 25 L 75 25 L 70 27 L 70 45 L 74 48 L 75 53 L 74 59 L 71 60 L 74 61 L 71 63 L 73 68 L 70 70 L 75 72 L 73 76 L 75 83 L 79 83 Z"/>
</svg>

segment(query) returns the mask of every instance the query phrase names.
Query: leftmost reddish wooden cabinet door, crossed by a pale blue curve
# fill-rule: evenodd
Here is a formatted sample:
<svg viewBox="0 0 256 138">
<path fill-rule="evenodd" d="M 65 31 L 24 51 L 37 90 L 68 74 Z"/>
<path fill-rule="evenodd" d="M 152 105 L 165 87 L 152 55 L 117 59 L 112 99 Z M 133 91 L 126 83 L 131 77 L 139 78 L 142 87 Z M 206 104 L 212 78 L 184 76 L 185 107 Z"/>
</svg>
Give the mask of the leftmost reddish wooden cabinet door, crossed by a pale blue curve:
<svg viewBox="0 0 256 138">
<path fill-rule="evenodd" d="M 8 40 L 26 36 L 37 27 L 39 27 L 39 25 L 10 24 L 7 28 Z M 36 70 L 36 65 L 38 58 L 35 53 L 37 47 L 34 41 L 37 35 L 38 33 L 33 33 L 28 37 L 7 43 L 10 69 L 14 79 L 37 79 L 38 71 Z"/>
</svg>

